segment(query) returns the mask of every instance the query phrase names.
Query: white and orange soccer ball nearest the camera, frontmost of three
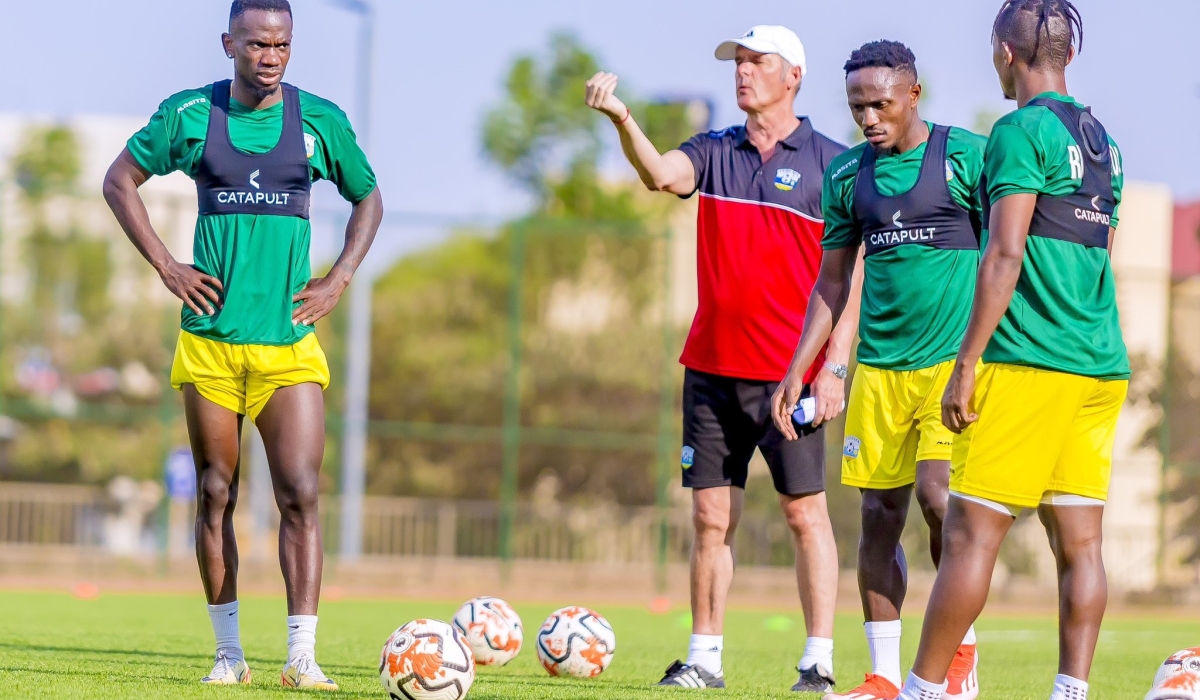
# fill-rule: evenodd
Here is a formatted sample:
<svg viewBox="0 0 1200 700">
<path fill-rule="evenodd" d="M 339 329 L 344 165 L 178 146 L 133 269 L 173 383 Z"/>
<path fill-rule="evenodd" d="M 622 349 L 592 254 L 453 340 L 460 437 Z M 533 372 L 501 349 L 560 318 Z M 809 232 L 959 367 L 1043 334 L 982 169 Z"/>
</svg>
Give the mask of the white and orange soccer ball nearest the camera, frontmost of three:
<svg viewBox="0 0 1200 700">
<path fill-rule="evenodd" d="M 475 680 L 475 657 L 454 627 L 414 620 L 391 633 L 379 681 L 392 700 L 461 700 Z"/>
</svg>

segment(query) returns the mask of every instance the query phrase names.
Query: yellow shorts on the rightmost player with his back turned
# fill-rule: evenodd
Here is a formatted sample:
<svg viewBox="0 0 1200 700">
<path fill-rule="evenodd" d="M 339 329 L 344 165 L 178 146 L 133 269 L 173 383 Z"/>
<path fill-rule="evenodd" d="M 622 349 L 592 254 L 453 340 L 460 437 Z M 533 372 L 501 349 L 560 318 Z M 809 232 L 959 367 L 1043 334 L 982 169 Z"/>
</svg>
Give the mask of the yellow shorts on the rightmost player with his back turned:
<svg viewBox="0 0 1200 700">
<path fill-rule="evenodd" d="M 1128 381 L 1003 364 L 976 377 L 979 420 L 954 438 L 950 491 L 1016 508 L 1051 492 L 1108 499 Z"/>
</svg>

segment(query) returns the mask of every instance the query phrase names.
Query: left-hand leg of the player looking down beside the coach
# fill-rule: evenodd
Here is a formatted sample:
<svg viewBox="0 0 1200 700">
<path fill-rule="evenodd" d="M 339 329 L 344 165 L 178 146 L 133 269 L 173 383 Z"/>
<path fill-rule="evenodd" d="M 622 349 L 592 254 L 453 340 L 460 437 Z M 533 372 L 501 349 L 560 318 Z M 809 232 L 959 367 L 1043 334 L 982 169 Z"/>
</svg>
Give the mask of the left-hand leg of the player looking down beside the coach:
<svg viewBox="0 0 1200 700">
<path fill-rule="evenodd" d="M 858 538 L 858 592 L 868 622 L 900 620 L 908 591 L 908 563 L 900 536 L 908 519 L 912 486 L 863 489 L 863 533 Z"/>
</svg>

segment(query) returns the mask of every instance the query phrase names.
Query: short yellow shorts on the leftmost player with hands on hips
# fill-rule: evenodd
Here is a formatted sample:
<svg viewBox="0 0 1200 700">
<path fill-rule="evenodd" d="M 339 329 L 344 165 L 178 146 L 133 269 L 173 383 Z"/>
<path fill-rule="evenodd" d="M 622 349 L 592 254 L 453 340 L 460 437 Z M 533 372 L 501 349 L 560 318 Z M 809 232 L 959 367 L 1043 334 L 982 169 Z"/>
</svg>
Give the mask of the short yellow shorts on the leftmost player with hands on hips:
<svg viewBox="0 0 1200 700">
<path fill-rule="evenodd" d="M 170 385 L 196 390 L 253 420 L 276 389 L 312 382 L 329 387 L 329 363 L 310 333 L 295 345 L 233 345 L 180 331 Z"/>
</svg>

